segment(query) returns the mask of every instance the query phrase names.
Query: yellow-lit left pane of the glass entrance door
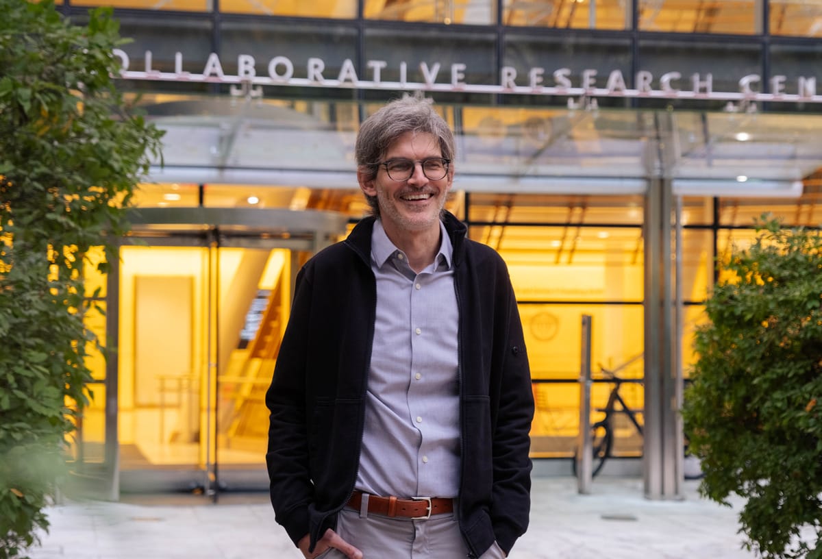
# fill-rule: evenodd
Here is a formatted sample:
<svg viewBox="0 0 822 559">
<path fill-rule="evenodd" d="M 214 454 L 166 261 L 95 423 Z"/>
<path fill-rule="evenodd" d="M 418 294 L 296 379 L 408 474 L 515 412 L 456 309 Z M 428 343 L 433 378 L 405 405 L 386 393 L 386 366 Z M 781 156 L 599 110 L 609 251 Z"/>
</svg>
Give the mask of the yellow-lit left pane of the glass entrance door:
<svg viewBox="0 0 822 559">
<path fill-rule="evenodd" d="M 118 439 L 121 469 L 196 471 L 210 440 L 209 252 L 120 251 Z"/>
</svg>

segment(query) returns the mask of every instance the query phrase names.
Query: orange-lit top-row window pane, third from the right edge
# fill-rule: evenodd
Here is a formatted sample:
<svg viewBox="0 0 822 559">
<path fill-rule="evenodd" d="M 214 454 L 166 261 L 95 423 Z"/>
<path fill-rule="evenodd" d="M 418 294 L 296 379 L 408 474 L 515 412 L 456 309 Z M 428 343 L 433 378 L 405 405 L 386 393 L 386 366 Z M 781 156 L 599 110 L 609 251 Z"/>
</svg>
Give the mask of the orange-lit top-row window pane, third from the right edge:
<svg viewBox="0 0 822 559">
<path fill-rule="evenodd" d="M 628 29 L 630 2 L 620 0 L 505 0 L 503 25 L 562 29 Z"/>
</svg>

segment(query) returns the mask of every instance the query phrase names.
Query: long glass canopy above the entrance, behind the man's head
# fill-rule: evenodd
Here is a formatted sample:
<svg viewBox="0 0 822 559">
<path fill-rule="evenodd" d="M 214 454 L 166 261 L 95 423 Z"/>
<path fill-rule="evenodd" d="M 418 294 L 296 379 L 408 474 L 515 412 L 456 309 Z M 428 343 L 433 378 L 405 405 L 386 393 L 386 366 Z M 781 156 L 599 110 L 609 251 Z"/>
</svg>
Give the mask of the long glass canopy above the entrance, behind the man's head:
<svg viewBox="0 0 822 559">
<path fill-rule="evenodd" d="M 166 132 L 156 182 L 356 187 L 359 122 L 379 104 L 147 95 Z M 822 116 L 436 105 L 464 192 L 799 196 L 822 166 Z"/>
</svg>

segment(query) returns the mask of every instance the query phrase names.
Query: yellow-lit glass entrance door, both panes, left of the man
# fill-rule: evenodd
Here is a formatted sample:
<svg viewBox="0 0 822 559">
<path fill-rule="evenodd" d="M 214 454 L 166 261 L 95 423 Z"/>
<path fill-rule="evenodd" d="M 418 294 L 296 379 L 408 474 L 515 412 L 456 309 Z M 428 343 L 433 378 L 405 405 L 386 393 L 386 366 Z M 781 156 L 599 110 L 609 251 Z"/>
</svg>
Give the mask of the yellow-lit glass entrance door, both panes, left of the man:
<svg viewBox="0 0 822 559">
<path fill-rule="evenodd" d="M 120 252 L 121 489 L 266 487 L 264 396 L 298 253 L 260 238 L 142 241 Z"/>
</svg>

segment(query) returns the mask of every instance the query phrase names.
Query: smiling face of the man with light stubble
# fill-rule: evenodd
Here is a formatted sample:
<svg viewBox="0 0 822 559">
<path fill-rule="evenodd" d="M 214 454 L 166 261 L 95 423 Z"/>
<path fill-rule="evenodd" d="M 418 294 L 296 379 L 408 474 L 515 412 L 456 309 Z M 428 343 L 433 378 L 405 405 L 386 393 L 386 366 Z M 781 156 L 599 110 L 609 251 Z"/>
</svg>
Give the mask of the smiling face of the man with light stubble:
<svg viewBox="0 0 822 559">
<path fill-rule="evenodd" d="M 427 132 L 405 132 L 386 150 L 383 161 L 395 158 L 421 161 L 429 157 L 442 157 L 436 136 Z M 376 196 L 380 205 L 382 226 L 394 240 L 408 234 L 431 233 L 439 237 L 440 212 L 446 204 L 454 172 L 448 169 L 446 176 L 432 181 L 423 174 L 420 164 L 415 164 L 411 178 L 395 181 L 381 165 L 373 179 L 358 173 L 360 188 L 368 196 Z"/>
</svg>

